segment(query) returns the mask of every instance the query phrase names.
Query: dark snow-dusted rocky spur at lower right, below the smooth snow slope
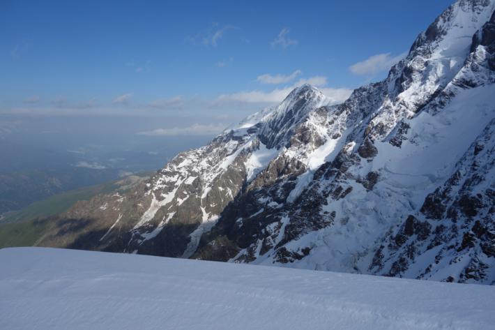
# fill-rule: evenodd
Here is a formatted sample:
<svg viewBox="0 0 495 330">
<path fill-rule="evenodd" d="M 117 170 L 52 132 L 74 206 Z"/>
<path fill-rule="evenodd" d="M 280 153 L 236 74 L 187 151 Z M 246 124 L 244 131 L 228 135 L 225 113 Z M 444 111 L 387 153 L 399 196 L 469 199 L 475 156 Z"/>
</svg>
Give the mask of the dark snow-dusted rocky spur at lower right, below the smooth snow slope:
<svg viewBox="0 0 495 330">
<path fill-rule="evenodd" d="M 376 252 L 370 270 L 391 276 L 493 284 L 495 119 Z M 430 257 L 424 260 L 427 253 Z M 425 261 L 429 262 L 429 264 Z"/>
</svg>

